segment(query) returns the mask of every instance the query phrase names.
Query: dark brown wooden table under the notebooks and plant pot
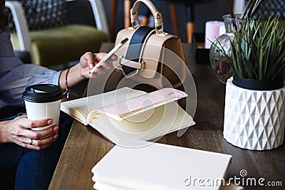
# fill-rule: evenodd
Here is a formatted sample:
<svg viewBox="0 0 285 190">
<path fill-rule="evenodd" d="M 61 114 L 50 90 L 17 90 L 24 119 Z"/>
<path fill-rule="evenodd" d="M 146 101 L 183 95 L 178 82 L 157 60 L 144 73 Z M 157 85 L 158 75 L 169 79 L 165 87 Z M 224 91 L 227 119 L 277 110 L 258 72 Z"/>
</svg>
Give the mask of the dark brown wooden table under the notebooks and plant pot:
<svg viewBox="0 0 285 190">
<path fill-rule="evenodd" d="M 250 151 L 229 144 L 223 138 L 225 86 L 214 77 L 210 65 L 196 65 L 192 44 L 183 44 L 186 63 L 197 86 L 196 125 L 182 137 L 167 134 L 158 142 L 232 155 L 227 179 L 239 178 L 242 169 L 250 178 L 281 181 L 285 186 L 285 146 L 269 151 Z M 91 127 L 74 121 L 66 145 L 53 174 L 49 189 L 93 189 L 92 167 L 114 146 Z M 237 179 L 237 181 L 242 182 Z M 249 183 L 250 184 L 250 183 Z M 269 186 L 245 186 L 245 189 L 269 189 Z M 273 189 L 282 189 L 274 187 Z"/>
</svg>

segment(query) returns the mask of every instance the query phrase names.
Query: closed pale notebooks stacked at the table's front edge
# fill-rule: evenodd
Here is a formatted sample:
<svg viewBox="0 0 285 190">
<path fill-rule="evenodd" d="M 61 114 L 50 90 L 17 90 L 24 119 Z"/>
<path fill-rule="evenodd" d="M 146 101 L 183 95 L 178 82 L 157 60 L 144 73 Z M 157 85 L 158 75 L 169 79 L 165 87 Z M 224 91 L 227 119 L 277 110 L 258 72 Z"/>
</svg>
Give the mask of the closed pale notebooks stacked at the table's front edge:
<svg viewBox="0 0 285 190">
<path fill-rule="evenodd" d="M 132 144 L 136 147 L 115 145 L 93 167 L 94 189 L 219 189 L 221 183 L 216 181 L 227 174 L 232 159 L 228 154 L 167 144 Z"/>
</svg>

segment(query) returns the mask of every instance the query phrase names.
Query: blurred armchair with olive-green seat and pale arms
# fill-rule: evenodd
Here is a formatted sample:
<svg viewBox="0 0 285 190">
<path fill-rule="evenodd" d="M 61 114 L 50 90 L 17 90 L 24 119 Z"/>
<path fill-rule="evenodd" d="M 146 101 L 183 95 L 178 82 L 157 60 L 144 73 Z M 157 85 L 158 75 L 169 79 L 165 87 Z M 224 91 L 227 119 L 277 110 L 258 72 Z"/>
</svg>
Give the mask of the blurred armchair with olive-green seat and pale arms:
<svg viewBox="0 0 285 190">
<path fill-rule="evenodd" d="M 14 50 L 31 54 L 32 63 L 52 67 L 98 52 L 109 29 L 100 0 L 6 1 Z"/>
</svg>

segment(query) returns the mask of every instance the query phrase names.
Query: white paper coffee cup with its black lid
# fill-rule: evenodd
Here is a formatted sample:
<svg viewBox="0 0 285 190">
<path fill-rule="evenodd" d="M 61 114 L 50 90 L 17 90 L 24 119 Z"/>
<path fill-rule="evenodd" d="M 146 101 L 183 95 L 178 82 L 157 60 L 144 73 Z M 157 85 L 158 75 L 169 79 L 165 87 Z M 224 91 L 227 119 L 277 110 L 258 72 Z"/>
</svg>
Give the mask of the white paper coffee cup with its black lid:
<svg viewBox="0 0 285 190">
<path fill-rule="evenodd" d="M 32 130 L 45 130 L 58 125 L 63 94 L 57 85 L 31 85 L 23 93 L 29 120 L 51 119 L 53 123 L 46 127 L 37 127 Z"/>
</svg>

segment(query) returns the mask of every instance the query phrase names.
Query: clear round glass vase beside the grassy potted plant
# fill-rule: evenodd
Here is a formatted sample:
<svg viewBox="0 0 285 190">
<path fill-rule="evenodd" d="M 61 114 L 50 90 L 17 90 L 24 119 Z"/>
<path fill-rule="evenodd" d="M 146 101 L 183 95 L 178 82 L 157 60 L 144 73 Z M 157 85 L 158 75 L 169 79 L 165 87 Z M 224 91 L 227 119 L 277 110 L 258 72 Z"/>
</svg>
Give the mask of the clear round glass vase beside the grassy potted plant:
<svg viewBox="0 0 285 190">
<path fill-rule="evenodd" d="M 217 37 L 209 49 L 209 60 L 212 70 L 219 81 L 224 84 L 227 82 L 227 79 L 232 76 L 232 69 L 221 49 L 223 48 L 227 55 L 230 56 L 231 41 L 234 40 L 234 34 L 232 32 L 241 28 L 242 22 L 244 21 L 244 19 L 241 19 L 241 16 L 241 14 L 235 14 L 234 18 L 232 18 L 230 14 L 226 14 L 222 17 L 224 19 L 226 32 Z"/>
</svg>

